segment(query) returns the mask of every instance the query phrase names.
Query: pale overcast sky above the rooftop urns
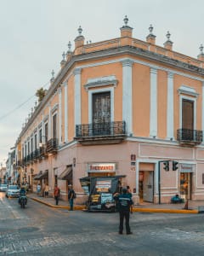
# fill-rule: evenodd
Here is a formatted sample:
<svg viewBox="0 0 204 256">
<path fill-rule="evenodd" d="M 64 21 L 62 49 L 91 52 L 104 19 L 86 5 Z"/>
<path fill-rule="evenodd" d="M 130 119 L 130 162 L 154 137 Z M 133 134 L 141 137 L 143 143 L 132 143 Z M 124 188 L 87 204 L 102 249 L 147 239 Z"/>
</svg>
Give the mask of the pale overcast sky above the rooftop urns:
<svg viewBox="0 0 204 256">
<path fill-rule="evenodd" d="M 196 58 L 203 10 L 203 0 L 0 0 L 0 166 L 79 26 L 85 42 L 119 38 L 127 15 L 133 38 L 145 41 L 152 24 L 157 45 L 169 31 L 173 50 Z"/>
</svg>

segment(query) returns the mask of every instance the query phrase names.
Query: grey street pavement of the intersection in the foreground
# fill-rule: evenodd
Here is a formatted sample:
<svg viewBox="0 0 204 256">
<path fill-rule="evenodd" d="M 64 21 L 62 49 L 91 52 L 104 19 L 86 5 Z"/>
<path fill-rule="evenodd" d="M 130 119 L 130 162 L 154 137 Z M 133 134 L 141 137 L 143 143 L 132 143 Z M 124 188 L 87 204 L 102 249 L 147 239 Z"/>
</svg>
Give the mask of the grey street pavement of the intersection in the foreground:
<svg viewBox="0 0 204 256">
<path fill-rule="evenodd" d="M 21 209 L 0 192 L 0 255 L 203 255 L 203 218 L 134 212 L 133 235 L 118 235 L 118 213 L 68 212 L 31 200 Z"/>
</svg>

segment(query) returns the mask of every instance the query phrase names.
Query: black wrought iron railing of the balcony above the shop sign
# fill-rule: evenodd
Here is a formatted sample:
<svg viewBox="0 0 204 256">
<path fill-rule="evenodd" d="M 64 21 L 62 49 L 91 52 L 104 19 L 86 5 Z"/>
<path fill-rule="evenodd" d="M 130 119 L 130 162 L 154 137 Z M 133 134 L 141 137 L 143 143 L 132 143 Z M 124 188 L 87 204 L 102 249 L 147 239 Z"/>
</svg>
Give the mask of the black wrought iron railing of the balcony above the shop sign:
<svg viewBox="0 0 204 256">
<path fill-rule="evenodd" d="M 78 137 L 116 137 L 120 135 L 126 135 L 125 121 L 76 125 L 76 139 Z"/>
</svg>

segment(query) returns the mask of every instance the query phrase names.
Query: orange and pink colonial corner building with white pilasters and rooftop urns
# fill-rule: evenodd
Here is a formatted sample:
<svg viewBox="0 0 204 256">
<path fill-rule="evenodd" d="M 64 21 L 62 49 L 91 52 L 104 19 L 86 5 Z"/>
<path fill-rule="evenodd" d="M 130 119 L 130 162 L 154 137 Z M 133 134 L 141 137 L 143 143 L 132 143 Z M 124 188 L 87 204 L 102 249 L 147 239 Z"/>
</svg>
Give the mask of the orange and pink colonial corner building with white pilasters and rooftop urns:
<svg viewBox="0 0 204 256">
<path fill-rule="evenodd" d="M 20 181 L 50 193 L 58 183 L 65 200 L 71 183 L 84 203 L 81 177 L 122 175 L 135 204 L 203 200 L 203 47 L 195 59 L 173 51 L 169 32 L 161 47 L 152 26 L 142 41 L 127 22 L 120 38 L 91 44 L 79 27 L 17 140 Z"/>
</svg>

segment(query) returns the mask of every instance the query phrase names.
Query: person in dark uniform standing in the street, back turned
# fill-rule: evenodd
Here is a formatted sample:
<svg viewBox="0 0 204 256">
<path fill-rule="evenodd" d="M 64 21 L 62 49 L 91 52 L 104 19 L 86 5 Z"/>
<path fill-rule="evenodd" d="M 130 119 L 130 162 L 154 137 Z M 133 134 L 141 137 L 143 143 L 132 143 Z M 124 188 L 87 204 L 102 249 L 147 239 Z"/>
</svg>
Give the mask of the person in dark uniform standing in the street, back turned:
<svg viewBox="0 0 204 256">
<path fill-rule="evenodd" d="M 133 234 L 129 226 L 129 213 L 130 213 L 130 207 L 133 205 L 133 201 L 132 201 L 132 198 L 130 198 L 130 196 L 127 194 L 127 188 L 122 188 L 122 194 L 120 195 L 115 194 L 114 199 L 118 201 L 118 207 L 119 207 L 119 214 L 120 214 L 119 234 L 122 235 L 124 218 L 125 218 L 125 224 L 126 224 L 126 234 L 127 235 Z"/>
</svg>

